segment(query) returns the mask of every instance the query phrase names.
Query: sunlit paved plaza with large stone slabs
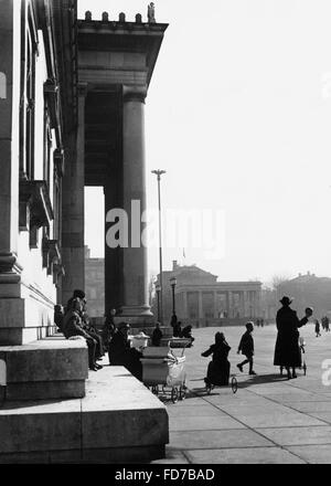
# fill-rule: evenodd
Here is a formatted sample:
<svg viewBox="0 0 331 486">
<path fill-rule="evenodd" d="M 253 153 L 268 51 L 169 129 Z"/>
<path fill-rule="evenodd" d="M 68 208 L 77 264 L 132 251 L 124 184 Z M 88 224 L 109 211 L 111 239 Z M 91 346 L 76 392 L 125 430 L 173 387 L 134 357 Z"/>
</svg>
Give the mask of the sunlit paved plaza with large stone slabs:
<svg viewBox="0 0 331 486">
<path fill-rule="evenodd" d="M 238 381 L 235 394 L 231 387 L 215 388 L 210 395 L 204 389 L 210 358 L 201 352 L 214 342 L 217 330 L 232 347 L 231 372 Z M 244 330 L 193 329 L 194 346 L 185 350 L 188 397 L 173 404 L 161 395 L 169 413 L 170 443 L 167 458 L 156 464 L 331 463 L 331 385 L 322 383 L 322 361 L 331 360 L 331 332 L 322 331 L 317 338 L 313 325 L 301 328 L 307 376 L 299 370 L 297 379 L 287 380 L 273 366 L 275 325 L 255 328 L 257 376 L 248 376 L 247 366 L 244 373 L 238 371 L 236 364 L 243 358 L 236 350 Z"/>
</svg>

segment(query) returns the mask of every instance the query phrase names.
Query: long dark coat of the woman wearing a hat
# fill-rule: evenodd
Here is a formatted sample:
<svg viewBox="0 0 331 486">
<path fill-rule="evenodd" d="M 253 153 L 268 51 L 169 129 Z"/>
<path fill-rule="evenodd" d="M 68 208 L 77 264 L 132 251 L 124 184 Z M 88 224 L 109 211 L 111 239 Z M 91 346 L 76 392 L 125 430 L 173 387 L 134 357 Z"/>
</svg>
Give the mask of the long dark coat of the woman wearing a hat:
<svg viewBox="0 0 331 486">
<path fill-rule="evenodd" d="M 301 367 L 301 350 L 299 347 L 298 328 L 308 321 L 307 317 L 299 320 L 296 310 L 281 307 L 276 316 L 277 339 L 275 346 L 274 364 L 281 367 Z"/>
</svg>

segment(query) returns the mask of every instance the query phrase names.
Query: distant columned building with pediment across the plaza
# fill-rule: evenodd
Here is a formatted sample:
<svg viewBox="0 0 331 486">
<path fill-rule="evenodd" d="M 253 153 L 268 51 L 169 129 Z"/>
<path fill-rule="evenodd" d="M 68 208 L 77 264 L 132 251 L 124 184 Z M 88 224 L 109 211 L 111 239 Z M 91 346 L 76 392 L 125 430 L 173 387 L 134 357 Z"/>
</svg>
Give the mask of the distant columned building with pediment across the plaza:
<svg viewBox="0 0 331 486">
<path fill-rule="evenodd" d="M 175 314 L 183 323 L 204 325 L 220 319 L 260 317 L 260 282 L 217 282 L 217 276 L 210 272 L 174 261 L 172 271 L 162 272 L 164 323 L 172 315 L 172 277 L 177 278 Z M 158 315 L 156 299 L 152 310 Z"/>
</svg>

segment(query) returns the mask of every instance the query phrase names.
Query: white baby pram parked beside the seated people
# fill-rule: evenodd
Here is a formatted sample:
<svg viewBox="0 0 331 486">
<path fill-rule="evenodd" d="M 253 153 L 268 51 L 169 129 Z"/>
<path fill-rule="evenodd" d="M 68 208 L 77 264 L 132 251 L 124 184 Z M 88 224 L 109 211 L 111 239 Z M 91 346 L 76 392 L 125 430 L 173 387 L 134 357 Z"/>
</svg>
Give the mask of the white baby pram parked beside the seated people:
<svg viewBox="0 0 331 486">
<path fill-rule="evenodd" d="M 171 401 L 175 403 L 178 399 L 184 400 L 186 394 L 185 387 L 185 348 L 177 356 L 168 347 L 148 347 L 143 350 L 142 382 L 151 388 L 152 393 L 159 395 L 160 388 L 164 394 L 170 393 Z"/>
</svg>

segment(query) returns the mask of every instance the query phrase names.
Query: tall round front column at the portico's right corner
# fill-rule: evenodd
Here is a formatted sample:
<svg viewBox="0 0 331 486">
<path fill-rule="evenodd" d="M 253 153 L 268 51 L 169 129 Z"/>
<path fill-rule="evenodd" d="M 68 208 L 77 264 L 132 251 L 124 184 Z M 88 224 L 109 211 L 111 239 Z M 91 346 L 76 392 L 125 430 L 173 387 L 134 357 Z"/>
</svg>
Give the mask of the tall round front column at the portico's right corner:
<svg viewBox="0 0 331 486">
<path fill-rule="evenodd" d="M 146 210 L 145 87 L 124 86 L 124 209 L 128 214 L 128 246 L 122 249 L 122 316 L 130 323 L 152 320 L 148 304 L 147 247 L 141 243 Z"/>
</svg>

